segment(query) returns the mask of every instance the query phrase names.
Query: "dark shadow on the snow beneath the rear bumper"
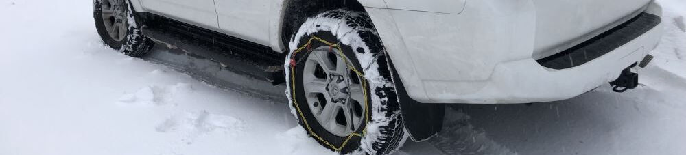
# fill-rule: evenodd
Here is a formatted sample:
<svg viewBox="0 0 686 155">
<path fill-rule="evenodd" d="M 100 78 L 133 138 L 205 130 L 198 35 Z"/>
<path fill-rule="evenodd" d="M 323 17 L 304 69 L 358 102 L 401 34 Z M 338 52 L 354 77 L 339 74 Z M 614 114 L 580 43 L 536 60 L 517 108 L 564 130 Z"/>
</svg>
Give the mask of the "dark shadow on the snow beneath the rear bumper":
<svg viewBox="0 0 686 155">
<path fill-rule="evenodd" d="M 604 88 L 559 102 L 453 104 L 446 110 L 444 130 L 438 136 L 408 143 L 402 152 L 414 154 L 421 145 L 442 154 L 606 152 L 608 145 L 616 143 L 613 131 L 649 113 L 641 111 L 641 104 L 646 103 Z"/>
</svg>

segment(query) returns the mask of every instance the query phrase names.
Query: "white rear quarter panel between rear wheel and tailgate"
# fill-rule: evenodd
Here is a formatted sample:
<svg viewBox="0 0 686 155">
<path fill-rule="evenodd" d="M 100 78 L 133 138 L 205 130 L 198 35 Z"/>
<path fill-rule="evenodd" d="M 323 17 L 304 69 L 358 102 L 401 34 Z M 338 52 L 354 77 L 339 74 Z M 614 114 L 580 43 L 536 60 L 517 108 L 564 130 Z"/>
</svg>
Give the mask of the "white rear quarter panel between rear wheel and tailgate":
<svg viewBox="0 0 686 155">
<path fill-rule="evenodd" d="M 388 1 L 387 1 L 388 2 Z M 451 94 L 482 89 L 497 64 L 530 59 L 535 9 L 530 0 L 467 1 L 460 14 L 367 8 L 408 95 L 433 102 L 426 87 Z M 462 85 L 445 85 L 470 81 Z"/>
</svg>

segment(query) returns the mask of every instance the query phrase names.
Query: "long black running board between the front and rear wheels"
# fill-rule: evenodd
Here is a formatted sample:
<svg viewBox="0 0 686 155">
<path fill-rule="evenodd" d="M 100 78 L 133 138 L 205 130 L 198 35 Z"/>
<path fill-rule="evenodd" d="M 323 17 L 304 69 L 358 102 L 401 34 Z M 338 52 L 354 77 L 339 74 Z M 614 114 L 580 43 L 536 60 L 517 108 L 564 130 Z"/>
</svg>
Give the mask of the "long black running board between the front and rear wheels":
<svg viewBox="0 0 686 155">
<path fill-rule="evenodd" d="M 283 62 L 285 54 L 272 51 L 268 46 L 226 36 L 209 29 L 203 29 L 180 21 L 141 13 L 145 23 L 143 35 L 166 44 L 171 51 L 200 59 L 215 61 L 227 70 L 245 74 L 279 85 L 285 82 Z"/>
</svg>

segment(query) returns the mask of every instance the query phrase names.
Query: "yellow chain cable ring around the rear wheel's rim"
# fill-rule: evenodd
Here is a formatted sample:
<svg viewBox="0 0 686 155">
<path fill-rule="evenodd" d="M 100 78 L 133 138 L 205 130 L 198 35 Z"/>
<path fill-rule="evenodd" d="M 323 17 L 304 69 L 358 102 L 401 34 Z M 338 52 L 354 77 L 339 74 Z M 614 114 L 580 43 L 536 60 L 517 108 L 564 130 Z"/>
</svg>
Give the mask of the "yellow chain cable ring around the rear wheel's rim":
<svg viewBox="0 0 686 155">
<path fill-rule="evenodd" d="M 295 57 L 295 55 L 297 55 L 300 51 L 303 51 L 305 48 L 308 48 L 309 46 L 311 47 L 311 43 L 312 43 L 312 41 L 314 41 L 314 40 L 317 40 L 317 41 L 319 41 L 319 42 L 322 42 L 322 43 L 324 43 L 324 44 L 327 44 L 327 45 L 329 45 L 329 47 L 331 47 L 331 48 L 336 48 L 336 49 L 338 49 L 337 55 L 338 55 L 339 57 L 341 57 L 341 58 L 343 59 L 343 61 L 345 61 L 346 65 L 348 65 L 348 68 L 352 68 L 353 72 L 355 72 L 355 74 L 357 74 L 357 76 L 359 76 L 359 77 L 362 78 L 362 92 L 363 92 L 363 96 L 364 96 L 364 109 L 365 109 L 364 115 L 365 115 L 365 122 L 369 122 L 369 109 L 368 109 L 368 99 L 367 99 L 367 81 L 366 81 L 366 79 L 364 78 L 364 74 L 362 74 L 362 72 L 357 71 L 357 68 L 355 68 L 354 66 L 352 66 L 352 64 L 348 61 L 348 59 L 346 59 L 346 57 L 344 57 L 345 55 L 344 55 L 343 52 L 342 52 L 343 50 L 342 50 L 342 48 L 341 48 L 338 44 L 333 44 L 333 43 L 331 43 L 331 42 L 327 42 L 327 40 L 324 40 L 324 39 L 322 39 L 322 38 L 318 38 L 318 37 L 316 37 L 316 36 L 312 36 L 312 38 L 310 38 L 309 41 L 307 41 L 307 44 L 304 44 L 303 46 L 300 46 L 300 48 L 298 48 L 296 51 L 293 52 L 292 57 Z M 310 52 L 311 52 L 311 51 L 310 51 Z M 291 59 L 291 61 L 294 61 L 293 58 Z M 322 137 L 320 137 L 320 136 L 317 135 L 315 132 L 313 132 L 313 131 L 312 131 L 312 128 L 310 128 L 309 124 L 307 123 L 307 119 L 305 119 L 305 115 L 303 114 L 303 111 L 300 110 L 300 106 L 298 105 L 298 102 L 296 101 L 296 93 L 295 93 L 295 86 L 296 86 L 296 84 L 295 84 L 295 79 L 296 79 L 296 78 L 295 78 L 295 70 L 296 70 L 296 67 L 295 67 L 294 64 L 292 64 L 292 65 L 291 65 L 291 88 L 292 88 L 291 96 L 293 96 L 293 97 L 292 97 L 292 100 L 293 100 L 293 103 L 294 103 L 294 105 L 295 105 L 295 107 L 296 107 L 296 110 L 298 111 L 298 114 L 300 115 L 300 119 L 303 119 L 303 122 L 305 123 L 305 127 L 307 127 L 307 131 L 310 133 L 310 135 L 316 137 L 316 139 L 318 139 L 318 141 L 321 141 L 321 142 L 324 143 L 325 145 L 328 145 L 329 147 L 331 147 L 331 149 L 335 150 L 336 152 L 340 152 L 340 151 L 343 149 L 343 147 L 345 147 L 346 144 L 348 144 L 348 141 L 350 141 L 350 139 L 352 139 L 354 136 L 362 137 L 362 135 L 366 134 L 367 128 L 365 127 L 365 128 L 362 130 L 362 134 L 353 132 L 353 134 L 351 134 L 350 136 L 348 136 L 348 138 L 347 138 L 345 141 L 343 141 L 343 143 L 342 143 L 342 145 L 341 145 L 340 147 L 335 147 L 334 145 L 332 145 L 331 143 L 329 143 L 329 141 L 324 140 Z"/>
</svg>

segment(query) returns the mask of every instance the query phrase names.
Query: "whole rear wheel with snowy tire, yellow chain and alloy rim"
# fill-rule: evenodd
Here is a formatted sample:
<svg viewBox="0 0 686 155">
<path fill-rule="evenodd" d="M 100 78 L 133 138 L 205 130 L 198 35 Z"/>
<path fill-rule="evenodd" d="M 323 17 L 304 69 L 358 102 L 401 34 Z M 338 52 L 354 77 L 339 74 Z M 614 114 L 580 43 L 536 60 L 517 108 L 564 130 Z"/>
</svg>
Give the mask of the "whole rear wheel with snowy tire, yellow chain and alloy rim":
<svg viewBox="0 0 686 155">
<path fill-rule="evenodd" d="M 309 18 L 289 48 L 289 105 L 318 143 L 341 154 L 390 154 L 405 143 L 386 52 L 365 12 Z"/>
</svg>

